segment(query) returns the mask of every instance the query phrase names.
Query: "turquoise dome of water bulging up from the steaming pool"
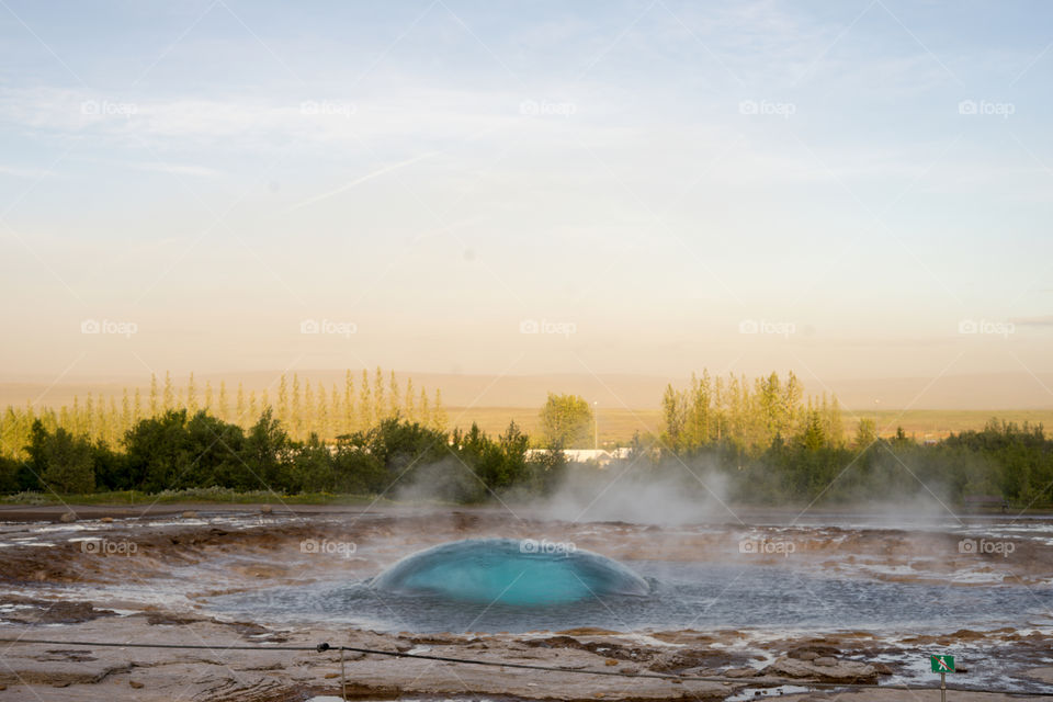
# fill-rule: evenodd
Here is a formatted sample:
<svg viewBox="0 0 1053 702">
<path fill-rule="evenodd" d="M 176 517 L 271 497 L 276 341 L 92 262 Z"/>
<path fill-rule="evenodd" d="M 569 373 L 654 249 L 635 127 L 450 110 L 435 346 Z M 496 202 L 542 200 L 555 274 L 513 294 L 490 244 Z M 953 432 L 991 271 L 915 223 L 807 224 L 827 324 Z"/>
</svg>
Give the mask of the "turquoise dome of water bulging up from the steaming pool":
<svg viewBox="0 0 1053 702">
<path fill-rule="evenodd" d="M 389 592 L 518 605 L 649 590 L 642 577 L 599 554 L 517 539 L 468 539 L 420 551 L 378 575 L 372 586 Z"/>
</svg>

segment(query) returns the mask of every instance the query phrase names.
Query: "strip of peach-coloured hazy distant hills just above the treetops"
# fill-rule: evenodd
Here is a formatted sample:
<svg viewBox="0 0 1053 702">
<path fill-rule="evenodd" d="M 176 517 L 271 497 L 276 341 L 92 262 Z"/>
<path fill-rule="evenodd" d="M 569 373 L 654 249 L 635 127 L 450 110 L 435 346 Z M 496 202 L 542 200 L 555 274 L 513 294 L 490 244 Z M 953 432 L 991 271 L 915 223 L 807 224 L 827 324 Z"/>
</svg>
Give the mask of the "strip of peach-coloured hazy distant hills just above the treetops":
<svg viewBox="0 0 1053 702">
<path fill-rule="evenodd" d="M 312 383 L 327 392 L 333 386 L 342 388 L 344 374 L 350 370 L 352 382 L 360 385 L 363 369 L 324 370 L 296 369 L 285 373 L 286 381 L 294 376 L 302 383 Z M 785 370 L 777 370 L 786 377 Z M 793 372 L 793 370 L 790 370 Z M 657 409 L 667 385 L 677 389 L 690 386 L 690 377 L 629 374 L 589 374 L 558 373 L 535 375 L 486 375 L 486 374 L 446 374 L 383 369 L 385 382 L 394 372 L 400 384 L 412 381 L 417 390 L 426 388 L 429 396 L 438 389 L 448 407 L 468 410 L 497 408 L 539 408 L 550 392 L 580 395 L 601 410 L 649 410 Z M 367 370 L 370 383 L 375 378 L 375 369 Z M 973 375 L 946 374 L 937 378 L 925 376 L 886 378 L 833 378 L 817 380 L 802 376 L 799 380 L 808 396 L 820 398 L 827 395 L 836 397 L 842 409 L 851 417 L 869 416 L 874 411 L 898 410 L 966 410 L 988 411 L 977 417 L 974 424 L 983 423 L 999 411 L 1005 410 L 1050 410 L 1053 397 L 1046 387 L 1053 386 L 1053 374 L 1029 373 L 988 373 Z M 207 385 L 218 393 L 220 383 L 226 384 L 233 396 L 239 384 L 245 390 L 261 392 L 269 389 L 273 395 L 282 376 L 281 371 L 257 371 L 240 373 L 194 373 L 194 383 L 199 396 L 204 395 Z M 727 380 L 727 374 L 724 374 Z M 746 376 L 752 382 L 752 376 Z M 174 387 L 185 393 L 189 375 L 172 374 Z M 165 372 L 157 375 L 159 386 L 165 383 Z M 64 377 L 59 382 L 46 376 L 23 378 L 21 382 L 0 376 L 0 406 L 24 406 L 31 403 L 36 407 L 59 407 L 69 405 L 75 397 L 81 399 L 89 395 L 95 397 L 120 397 L 124 389 L 138 388 L 144 397 L 150 385 L 149 375 L 112 377 Z M 471 422 L 472 411 L 463 419 Z M 1037 419 L 1042 421 L 1042 419 Z"/>
</svg>

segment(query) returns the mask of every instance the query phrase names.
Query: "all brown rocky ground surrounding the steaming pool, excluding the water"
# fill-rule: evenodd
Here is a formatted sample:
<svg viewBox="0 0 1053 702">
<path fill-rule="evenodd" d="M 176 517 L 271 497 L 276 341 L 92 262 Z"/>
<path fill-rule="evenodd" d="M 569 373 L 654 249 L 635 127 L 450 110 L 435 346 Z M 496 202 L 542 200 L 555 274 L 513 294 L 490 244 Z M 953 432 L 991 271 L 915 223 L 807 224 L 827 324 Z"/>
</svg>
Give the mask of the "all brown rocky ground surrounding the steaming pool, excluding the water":
<svg viewBox="0 0 1053 702">
<path fill-rule="evenodd" d="M 204 510 L 212 510 L 205 514 Z M 199 511 L 201 513 L 199 513 Z M 275 514 L 237 507 L 201 506 L 169 510 L 161 521 L 106 508 L 80 510 L 76 520 L 63 511 L 32 514 L 54 520 L 54 531 L 41 535 L 39 522 L 15 523 L 11 511 L 0 548 L 0 637 L 59 642 L 179 643 L 197 649 L 97 647 L 77 644 L 0 643 L 0 702 L 7 700 L 226 700 L 279 702 L 340 694 L 340 656 L 319 653 L 321 643 L 376 650 L 468 658 L 503 664 L 562 668 L 561 671 L 484 667 L 377 654 L 346 653 L 349 697 L 359 699 L 465 698 L 529 700 L 676 700 L 754 699 L 781 692 L 786 699 L 935 700 L 938 691 L 874 688 L 849 683 L 902 682 L 907 661 L 932 647 L 967 643 L 997 648 L 999 657 L 1017 663 L 1016 682 L 1053 682 L 1053 670 L 1028 668 L 1050 649 L 1049 636 L 1037 631 L 962 630 L 939 636 L 878 636 L 835 632 L 809 636 L 759 636 L 735 631 L 671 631 L 624 634 L 570 630 L 514 634 L 377 633 L 337 626 L 275 626 L 260 622 L 219 621 L 199 604 L 219 592 L 260 585 L 309 580 L 327 567 L 375 573 L 405 551 L 420 544 L 465 535 L 517 535 L 499 513 L 390 511 L 360 519 L 321 510 L 312 514 Z M 167 520 L 167 521 L 166 521 Z M 551 525 L 547 526 L 551 530 Z M 50 528 L 49 528 L 50 529 Z M 615 557 L 632 558 L 643 548 L 636 525 L 608 525 L 616 540 Z M 752 533 L 745 529 L 741 533 Z M 756 531 L 756 530 L 755 530 Z M 738 532 L 736 532 L 738 533 Z M 780 533 L 785 533 L 780 531 Z M 931 567 L 953 567 L 955 550 L 948 534 L 892 532 L 871 534 L 814 529 L 797 534 L 802 550 L 812 544 L 818 564 L 836 562 L 829 544 L 853 542 L 856 557 L 895 563 L 910 554 L 912 563 L 931 555 Z M 48 540 L 42 545 L 41 540 Z M 98 546 L 103 539 L 107 553 Z M 305 540 L 346 540 L 377 544 L 353 561 L 332 565 L 312 558 L 298 546 Z M 575 539 L 588 547 L 587 531 Z M 610 533 L 605 535 L 610 545 Z M 666 557 L 718 557 L 728 552 L 726 533 L 670 533 Z M 910 543 L 907 543 L 907 542 Z M 116 545 L 114 545 L 116 544 Z M 120 544 L 124 551 L 117 551 Z M 134 552 L 128 553 L 128 545 Z M 733 544 L 734 545 L 734 544 Z M 1015 554 L 1014 573 L 1035 579 L 1049 570 L 1049 555 L 1033 545 Z M 919 556 L 920 554 L 920 556 Z M 951 554 L 951 555 L 948 555 Z M 655 557 L 654 553 L 648 553 Z M 906 556 L 903 556 L 906 557 Z M 882 561 L 883 559 L 883 561 Z M 947 565 L 950 563 L 951 565 Z M 1000 566 L 1001 564 L 999 564 Z M 899 576 L 897 576 L 899 577 Z M 929 575 L 918 576 L 930 577 Z M 121 588 L 136 584 L 137 595 Z M 141 597 L 157 584 L 156 599 Z M 163 587 L 161 587 L 163 584 Z M 145 587 L 143 587 L 145 586 Z M 172 597 L 179 592 L 181 597 Z M 87 595 L 90 593 L 90 597 Z M 169 595 L 166 595 L 169 593 Z M 258 646 L 244 650 L 233 646 Z M 309 647 L 281 652 L 264 647 Z M 582 675 L 591 670 L 619 675 Z M 648 677 L 654 676 L 654 677 Z M 701 679 L 705 678 L 705 679 Z M 933 677 L 935 679 L 935 677 Z M 915 681 L 916 682 L 916 681 Z M 951 683 L 969 682 L 964 672 Z M 783 686 L 793 687 L 783 687 Z M 808 690 L 808 691 L 803 691 Z M 955 692 L 954 700 L 1000 700 L 999 694 Z M 1005 698 L 1008 699 L 1008 698 Z"/>
</svg>

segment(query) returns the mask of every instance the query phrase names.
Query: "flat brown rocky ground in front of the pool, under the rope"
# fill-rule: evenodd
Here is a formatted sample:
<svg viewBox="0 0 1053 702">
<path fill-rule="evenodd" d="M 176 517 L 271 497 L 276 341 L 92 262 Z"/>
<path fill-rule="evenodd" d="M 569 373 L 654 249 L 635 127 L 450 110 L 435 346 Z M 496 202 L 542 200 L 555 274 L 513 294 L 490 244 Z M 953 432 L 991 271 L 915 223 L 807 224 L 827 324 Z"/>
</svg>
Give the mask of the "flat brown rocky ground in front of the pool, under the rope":
<svg viewBox="0 0 1053 702">
<path fill-rule="evenodd" d="M 750 652 L 735 632 L 659 632 L 626 636 L 577 630 L 530 637 L 509 634 L 411 635 L 339 629 L 269 629 L 146 610 L 117 615 L 89 603 L 24 599 L 0 629 L 4 637 L 69 642 L 182 643 L 197 649 L 97 647 L 80 644 L 0 644 L 0 701 L 195 700 L 279 702 L 340 694 L 340 654 L 319 643 L 401 654 L 502 664 L 551 666 L 565 671 L 483 667 L 378 654 L 344 653 L 349 697 L 359 699 L 519 698 L 529 700 L 723 700 L 743 690 L 826 683 L 789 699 L 906 699 L 903 691 L 853 691 L 842 683 L 890 683 L 892 667 L 867 663 L 879 643 L 862 634 L 765 642 Z M 950 637 L 966 636 L 958 634 Z M 647 641 L 649 639 L 649 641 Z M 944 642 L 948 643 L 948 642 Z M 887 646 L 888 644 L 881 644 Z M 1029 645 L 1048 647 L 1049 642 Z M 236 646 L 257 647 L 251 650 Z M 310 650 L 267 650 L 267 647 Z M 757 667 L 756 661 L 770 659 Z M 581 675 L 580 670 L 620 676 Z M 644 677 L 649 675 L 665 677 Z M 1049 669 L 1033 671 L 1050 679 Z M 698 678 L 713 678 L 700 680 Z M 800 688 L 793 688 L 800 689 Z M 913 686 L 912 700 L 930 693 Z M 846 697 L 847 695 L 847 697 Z M 954 699 L 999 700 L 955 693 Z M 1008 698 L 1006 698 L 1008 699 Z"/>
</svg>

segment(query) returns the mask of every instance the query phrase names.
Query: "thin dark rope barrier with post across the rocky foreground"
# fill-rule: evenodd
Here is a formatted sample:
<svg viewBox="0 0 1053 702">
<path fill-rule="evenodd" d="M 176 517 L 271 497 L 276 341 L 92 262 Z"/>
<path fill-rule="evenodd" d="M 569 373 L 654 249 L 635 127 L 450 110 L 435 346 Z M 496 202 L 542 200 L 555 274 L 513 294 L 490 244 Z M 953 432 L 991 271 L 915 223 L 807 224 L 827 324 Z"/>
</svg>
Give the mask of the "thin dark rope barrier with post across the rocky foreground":
<svg viewBox="0 0 1053 702">
<path fill-rule="evenodd" d="M 360 653 L 365 655 L 375 655 L 375 656 L 389 656 L 393 658 L 415 658 L 420 660 L 435 660 L 439 663 L 454 663 L 472 666 L 490 666 L 496 668 L 518 668 L 525 670 L 543 670 L 547 672 L 573 672 L 579 675 L 591 675 L 591 676 L 609 676 L 616 678 L 655 678 L 660 680 L 678 680 L 681 682 L 687 681 L 698 681 L 698 682 L 725 682 L 741 684 L 745 687 L 774 687 L 772 682 L 774 680 L 781 680 L 783 682 L 777 684 L 797 684 L 801 687 L 807 688 L 828 688 L 828 689 L 843 689 L 843 688 L 865 688 L 865 689 L 882 689 L 882 690 L 939 690 L 937 684 L 906 684 L 906 683 L 890 683 L 890 684 L 879 684 L 876 682 L 822 682 L 822 681 L 808 681 L 801 680 L 796 678 L 780 678 L 778 676 L 772 676 L 765 678 L 763 680 L 756 680 L 750 684 L 749 678 L 729 678 L 725 676 L 678 676 L 667 672 L 623 672 L 621 670 L 590 670 L 588 668 L 564 668 L 561 666 L 541 666 L 536 664 L 529 663 L 507 663 L 500 660 L 480 660 L 478 658 L 454 658 L 451 656 L 432 656 L 429 654 L 410 654 L 401 653 L 397 650 L 381 650 L 378 648 L 362 648 L 360 646 L 330 646 L 328 643 L 320 643 L 317 646 L 245 646 L 245 645 L 215 645 L 210 646 L 207 644 L 136 644 L 136 643 L 114 643 L 114 642 L 91 642 L 91 641 L 58 641 L 58 639 L 47 639 L 47 638 L 0 638 L 0 643 L 5 644 L 45 644 L 45 645 L 55 645 L 55 646 L 86 646 L 86 647 L 110 647 L 110 648 L 169 648 L 169 649 L 188 649 L 188 650 L 211 650 L 215 653 L 216 650 L 274 650 L 274 652 L 313 652 L 313 653 L 325 653 L 327 650 L 339 650 L 341 658 L 341 668 L 343 667 L 343 652 L 350 650 L 353 653 Z M 341 672 L 341 686 L 343 683 L 342 672 Z M 989 692 L 997 694 L 1005 694 L 1008 697 L 1020 697 L 1020 698 L 1053 698 L 1053 692 L 1021 692 L 1017 690 L 987 690 L 987 689 L 976 689 L 976 688 L 963 688 L 963 687 L 947 687 L 948 690 L 953 690 L 958 692 Z"/>
</svg>

